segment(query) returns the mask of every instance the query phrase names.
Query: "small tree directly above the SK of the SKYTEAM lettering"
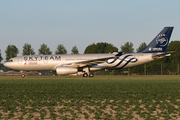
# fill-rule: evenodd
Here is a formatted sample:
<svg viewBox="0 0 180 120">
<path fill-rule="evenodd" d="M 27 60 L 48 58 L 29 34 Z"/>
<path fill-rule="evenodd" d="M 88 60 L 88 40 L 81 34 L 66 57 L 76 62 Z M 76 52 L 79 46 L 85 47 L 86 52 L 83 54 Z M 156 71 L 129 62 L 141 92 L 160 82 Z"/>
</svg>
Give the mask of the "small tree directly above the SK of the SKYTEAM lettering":
<svg viewBox="0 0 180 120">
<path fill-rule="evenodd" d="M 34 49 L 31 48 L 31 45 L 28 44 L 28 43 L 25 43 L 24 46 L 23 46 L 23 55 L 34 55 L 35 52 L 34 52 Z"/>
</svg>

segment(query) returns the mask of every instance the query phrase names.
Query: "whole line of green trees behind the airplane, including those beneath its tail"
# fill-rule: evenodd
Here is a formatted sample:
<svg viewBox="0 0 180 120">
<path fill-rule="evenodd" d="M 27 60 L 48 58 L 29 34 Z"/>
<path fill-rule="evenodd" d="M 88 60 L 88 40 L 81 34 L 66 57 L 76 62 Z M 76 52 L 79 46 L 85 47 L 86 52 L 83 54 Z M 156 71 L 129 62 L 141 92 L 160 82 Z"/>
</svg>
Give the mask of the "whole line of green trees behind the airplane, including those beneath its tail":
<svg viewBox="0 0 180 120">
<path fill-rule="evenodd" d="M 143 42 L 140 44 L 136 52 L 143 50 L 146 47 L 146 43 Z M 132 53 L 135 52 L 133 48 L 133 43 L 126 42 L 124 45 L 120 46 L 120 51 L 117 47 L 113 46 L 110 43 L 93 43 L 86 47 L 84 50 L 84 54 L 87 53 L 113 53 L 113 52 L 124 52 L 124 53 Z M 123 70 L 109 70 L 109 71 L 96 71 L 95 74 L 113 74 L 113 75 L 121 75 L 121 74 L 151 74 L 151 75 L 161 75 L 161 74 L 177 74 L 179 75 L 179 62 L 180 62 L 180 41 L 171 41 L 167 47 L 167 51 L 175 51 L 171 56 L 165 57 L 163 59 L 140 65 L 137 67 L 123 69 Z M 18 48 L 15 45 L 8 45 L 6 50 L 6 61 L 12 57 L 16 57 L 19 53 Z M 59 44 L 57 46 L 57 50 L 54 52 L 55 54 L 67 54 L 66 48 Z M 23 46 L 22 55 L 34 55 L 34 49 L 30 44 L 25 43 Z M 52 54 L 50 48 L 46 44 L 42 44 L 38 49 L 38 54 Z M 74 46 L 71 50 L 71 54 L 79 54 L 78 48 Z M 0 51 L 0 62 L 3 60 L 1 57 Z"/>
</svg>

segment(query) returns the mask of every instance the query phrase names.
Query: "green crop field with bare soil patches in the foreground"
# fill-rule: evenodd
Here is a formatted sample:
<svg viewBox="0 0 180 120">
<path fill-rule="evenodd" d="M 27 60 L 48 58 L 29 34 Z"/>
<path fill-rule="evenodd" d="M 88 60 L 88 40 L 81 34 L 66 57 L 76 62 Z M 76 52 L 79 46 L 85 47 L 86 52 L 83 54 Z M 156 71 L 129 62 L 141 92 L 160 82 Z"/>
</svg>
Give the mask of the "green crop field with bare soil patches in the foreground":
<svg viewBox="0 0 180 120">
<path fill-rule="evenodd" d="M 0 76 L 1 119 L 180 119 L 180 76 Z"/>
</svg>

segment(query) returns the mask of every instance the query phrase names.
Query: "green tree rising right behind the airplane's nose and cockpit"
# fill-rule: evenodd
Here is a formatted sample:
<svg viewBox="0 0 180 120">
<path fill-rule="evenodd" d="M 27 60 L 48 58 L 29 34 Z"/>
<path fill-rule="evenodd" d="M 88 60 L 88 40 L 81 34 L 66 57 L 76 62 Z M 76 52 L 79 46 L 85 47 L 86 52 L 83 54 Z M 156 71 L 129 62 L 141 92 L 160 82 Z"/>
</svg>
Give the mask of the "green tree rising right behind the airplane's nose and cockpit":
<svg viewBox="0 0 180 120">
<path fill-rule="evenodd" d="M 8 45 L 6 48 L 6 61 L 8 61 L 12 57 L 16 57 L 19 53 L 18 48 L 15 45 Z"/>
</svg>

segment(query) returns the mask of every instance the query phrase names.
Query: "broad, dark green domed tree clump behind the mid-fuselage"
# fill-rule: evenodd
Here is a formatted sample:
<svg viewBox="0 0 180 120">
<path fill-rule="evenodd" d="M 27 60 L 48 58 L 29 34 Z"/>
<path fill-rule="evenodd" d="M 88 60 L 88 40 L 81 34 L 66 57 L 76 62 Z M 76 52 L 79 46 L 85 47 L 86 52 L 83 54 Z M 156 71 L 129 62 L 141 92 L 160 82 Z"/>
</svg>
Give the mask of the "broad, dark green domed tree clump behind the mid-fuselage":
<svg viewBox="0 0 180 120">
<path fill-rule="evenodd" d="M 118 48 L 114 47 L 112 44 L 109 43 L 97 43 L 97 44 L 91 44 L 86 47 L 84 53 L 112 53 L 112 52 L 118 52 Z"/>
</svg>

